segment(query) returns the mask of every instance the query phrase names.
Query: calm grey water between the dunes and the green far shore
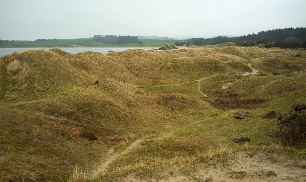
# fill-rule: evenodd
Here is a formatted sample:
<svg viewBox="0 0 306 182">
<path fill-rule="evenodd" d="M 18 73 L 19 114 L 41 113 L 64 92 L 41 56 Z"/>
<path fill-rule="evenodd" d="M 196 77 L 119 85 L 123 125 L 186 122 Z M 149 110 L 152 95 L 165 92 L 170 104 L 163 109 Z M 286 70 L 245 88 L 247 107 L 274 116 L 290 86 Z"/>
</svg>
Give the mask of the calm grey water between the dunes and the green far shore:
<svg viewBox="0 0 306 182">
<path fill-rule="evenodd" d="M 21 52 L 23 50 L 28 50 L 28 49 L 51 49 L 50 47 L 35 47 L 35 48 L 0 48 L 0 56 L 4 56 L 6 54 L 10 54 L 14 51 Z M 65 50 L 66 52 L 69 52 L 71 54 L 76 54 L 79 52 L 85 52 L 88 50 L 94 51 L 94 52 L 99 52 L 102 54 L 106 54 L 107 51 L 113 50 L 113 51 L 125 51 L 128 49 L 144 49 L 144 50 L 151 50 L 152 48 L 128 48 L 128 47 L 123 47 L 123 48 L 114 48 L 114 47 L 61 47 L 62 50 Z"/>
</svg>

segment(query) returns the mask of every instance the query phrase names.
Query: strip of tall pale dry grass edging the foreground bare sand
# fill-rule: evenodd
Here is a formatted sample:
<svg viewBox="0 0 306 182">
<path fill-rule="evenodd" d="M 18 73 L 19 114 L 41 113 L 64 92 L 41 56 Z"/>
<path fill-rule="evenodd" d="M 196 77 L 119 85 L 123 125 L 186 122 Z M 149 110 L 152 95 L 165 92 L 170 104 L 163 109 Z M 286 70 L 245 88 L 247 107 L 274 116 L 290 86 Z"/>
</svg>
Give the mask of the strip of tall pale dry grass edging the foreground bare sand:
<svg viewBox="0 0 306 182">
<path fill-rule="evenodd" d="M 221 147 L 210 147 L 205 151 L 197 152 L 191 157 L 180 156 L 178 153 L 174 153 L 169 159 L 154 158 L 153 161 L 148 162 L 146 159 L 140 159 L 133 161 L 127 165 L 118 165 L 114 168 L 107 168 L 101 172 L 93 181 L 120 181 L 131 173 L 136 173 L 141 179 L 146 179 L 147 176 L 158 176 L 166 169 L 177 166 L 182 174 L 190 174 L 194 171 L 197 165 L 204 164 L 210 165 L 212 160 L 217 158 L 222 165 L 226 165 L 227 160 L 233 160 L 236 157 L 236 153 L 245 150 L 259 150 L 267 152 L 279 152 L 283 148 L 278 145 L 271 146 L 255 146 L 245 143 L 242 146 L 230 147 L 223 145 Z M 136 155 L 136 154 L 135 154 Z M 178 175 L 178 174 L 176 174 Z M 188 175 L 187 175 L 188 176 Z"/>
</svg>

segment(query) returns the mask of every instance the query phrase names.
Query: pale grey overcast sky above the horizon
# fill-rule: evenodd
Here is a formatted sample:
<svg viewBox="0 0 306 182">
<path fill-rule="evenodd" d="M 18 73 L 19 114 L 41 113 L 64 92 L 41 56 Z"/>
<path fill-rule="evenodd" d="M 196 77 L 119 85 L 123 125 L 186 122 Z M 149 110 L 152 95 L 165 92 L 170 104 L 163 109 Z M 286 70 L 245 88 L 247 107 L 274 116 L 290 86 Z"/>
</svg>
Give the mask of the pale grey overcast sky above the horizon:
<svg viewBox="0 0 306 182">
<path fill-rule="evenodd" d="M 306 27 L 306 0 L 0 0 L 0 39 L 243 35 Z"/>
</svg>

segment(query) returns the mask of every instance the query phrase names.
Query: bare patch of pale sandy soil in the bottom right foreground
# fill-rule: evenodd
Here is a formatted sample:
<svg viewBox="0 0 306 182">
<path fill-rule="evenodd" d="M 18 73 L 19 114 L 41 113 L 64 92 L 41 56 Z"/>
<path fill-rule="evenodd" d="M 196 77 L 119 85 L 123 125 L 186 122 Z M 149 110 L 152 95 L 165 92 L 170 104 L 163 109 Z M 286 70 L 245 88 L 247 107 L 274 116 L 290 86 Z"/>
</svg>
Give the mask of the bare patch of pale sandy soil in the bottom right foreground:
<svg viewBox="0 0 306 182">
<path fill-rule="evenodd" d="M 173 171 L 175 169 L 171 169 Z M 243 151 L 229 159 L 226 164 L 212 160 L 210 165 L 199 165 L 189 176 L 179 172 L 170 175 L 165 169 L 163 175 L 151 179 L 139 179 L 130 175 L 124 182 L 304 182 L 306 181 L 306 161 L 299 158 L 288 158 L 277 153 Z"/>
</svg>

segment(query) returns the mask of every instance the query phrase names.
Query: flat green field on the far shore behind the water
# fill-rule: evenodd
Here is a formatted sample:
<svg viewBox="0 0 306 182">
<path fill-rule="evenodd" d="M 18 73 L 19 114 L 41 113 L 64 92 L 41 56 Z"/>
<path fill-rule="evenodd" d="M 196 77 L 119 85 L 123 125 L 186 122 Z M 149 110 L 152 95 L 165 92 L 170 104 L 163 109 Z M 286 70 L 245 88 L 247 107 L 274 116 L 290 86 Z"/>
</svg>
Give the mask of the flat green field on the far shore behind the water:
<svg viewBox="0 0 306 182">
<path fill-rule="evenodd" d="M 175 40 L 141 40 L 143 44 L 101 44 L 90 42 L 90 38 L 84 39 L 60 39 L 46 41 L 22 41 L 14 43 L 2 43 L 0 47 L 59 47 L 59 46 L 86 46 L 86 47 L 141 47 L 141 46 L 163 46 L 165 44 L 174 44 Z"/>
</svg>

